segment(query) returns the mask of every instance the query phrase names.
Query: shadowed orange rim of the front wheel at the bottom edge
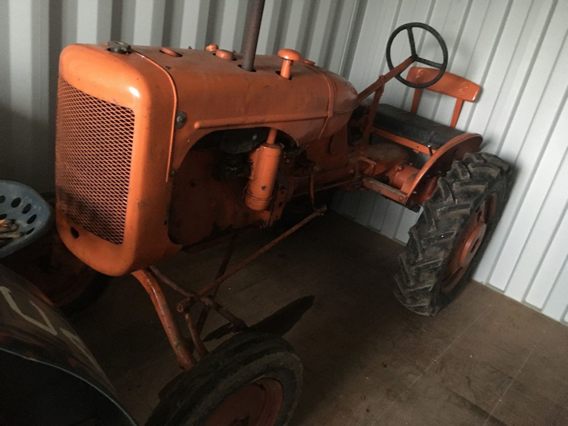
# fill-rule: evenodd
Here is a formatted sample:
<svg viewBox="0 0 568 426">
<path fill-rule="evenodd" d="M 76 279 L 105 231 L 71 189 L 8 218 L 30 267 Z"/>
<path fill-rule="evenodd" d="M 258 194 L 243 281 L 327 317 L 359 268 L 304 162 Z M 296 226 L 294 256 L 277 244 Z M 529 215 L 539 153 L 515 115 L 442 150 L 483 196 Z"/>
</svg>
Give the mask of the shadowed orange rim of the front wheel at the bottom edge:
<svg viewBox="0 0 568 426">
<path fill-rule="evenodd" d="M 282 408 L 282 385 L 258 379 L 229 396 L 205 426 L 271 426 Z"/>
</svg>

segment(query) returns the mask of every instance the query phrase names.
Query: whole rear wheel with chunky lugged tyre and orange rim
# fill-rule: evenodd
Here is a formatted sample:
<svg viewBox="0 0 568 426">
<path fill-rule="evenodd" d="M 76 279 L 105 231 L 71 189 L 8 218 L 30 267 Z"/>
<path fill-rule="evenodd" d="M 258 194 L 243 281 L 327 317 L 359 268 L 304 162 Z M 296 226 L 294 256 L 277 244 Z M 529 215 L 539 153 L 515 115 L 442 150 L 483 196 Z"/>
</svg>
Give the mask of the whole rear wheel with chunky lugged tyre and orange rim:
<svg viewBox="0 0 568 426">
<path fill-rule="evenodd" d="M 411 311 L 435 315 L 466 282 L 503 212 L 509 166 L 489 153 L 453 162 L 410 229 L 395 295 Z"/>
</svg>

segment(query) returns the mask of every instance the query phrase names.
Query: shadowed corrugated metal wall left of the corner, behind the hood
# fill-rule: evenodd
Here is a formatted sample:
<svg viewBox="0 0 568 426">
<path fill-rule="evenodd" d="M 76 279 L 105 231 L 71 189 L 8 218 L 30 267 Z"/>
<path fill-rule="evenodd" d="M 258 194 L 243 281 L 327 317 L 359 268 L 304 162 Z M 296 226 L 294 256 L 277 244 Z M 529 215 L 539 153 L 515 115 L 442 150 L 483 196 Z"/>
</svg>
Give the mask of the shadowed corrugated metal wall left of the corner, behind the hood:
<svg viewBox="0 0 568 426">
<path fill-rule="evenodd" d="M 296 48 L 348 74 L 360 0 L 267 0 L 258 53 Z M 241 50 L 247 0 L 0 0 L 0 177 L 53 187 L 57 60 L 70 43 Z"/>
</svg>

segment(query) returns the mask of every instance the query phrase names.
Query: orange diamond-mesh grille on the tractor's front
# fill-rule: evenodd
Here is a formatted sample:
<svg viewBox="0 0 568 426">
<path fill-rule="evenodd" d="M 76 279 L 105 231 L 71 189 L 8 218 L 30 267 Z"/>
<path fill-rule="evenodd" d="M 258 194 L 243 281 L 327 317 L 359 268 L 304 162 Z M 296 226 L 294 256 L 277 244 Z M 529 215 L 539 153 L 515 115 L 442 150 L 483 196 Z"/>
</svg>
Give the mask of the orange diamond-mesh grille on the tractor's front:
<svg viewBox="0 0 568 426">
<path fill-rule="evenodd" d="M 57 201 L 73 222 L 122 244 L 134 113 L 59 79 L 56 119 Z"/>
</svg>

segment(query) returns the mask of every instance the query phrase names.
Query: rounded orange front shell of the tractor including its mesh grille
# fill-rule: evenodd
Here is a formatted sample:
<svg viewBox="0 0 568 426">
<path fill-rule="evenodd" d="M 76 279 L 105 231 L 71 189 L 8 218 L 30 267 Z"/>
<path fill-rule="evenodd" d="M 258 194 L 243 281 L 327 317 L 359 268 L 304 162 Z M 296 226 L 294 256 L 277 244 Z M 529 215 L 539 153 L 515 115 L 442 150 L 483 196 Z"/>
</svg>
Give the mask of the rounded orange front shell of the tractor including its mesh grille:
<svg viewBox="0 0 568 426">
<path fill-rule="evenodd" d="M 59 77 L 55 183 L 62 241 L 108 275 L 153 264 L 172 246 L 165 208 L 172 183 L 165 176 L 177 93 L 168 73 L 137 53 L 72 44 L 61 53 Z M 133 127 L 112 108 L 132 111 Z"/>
</svg>

